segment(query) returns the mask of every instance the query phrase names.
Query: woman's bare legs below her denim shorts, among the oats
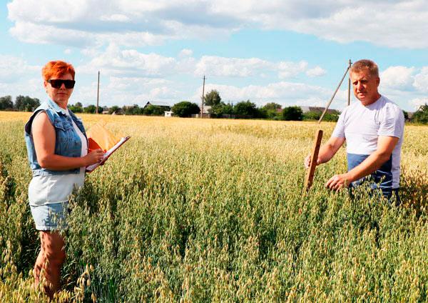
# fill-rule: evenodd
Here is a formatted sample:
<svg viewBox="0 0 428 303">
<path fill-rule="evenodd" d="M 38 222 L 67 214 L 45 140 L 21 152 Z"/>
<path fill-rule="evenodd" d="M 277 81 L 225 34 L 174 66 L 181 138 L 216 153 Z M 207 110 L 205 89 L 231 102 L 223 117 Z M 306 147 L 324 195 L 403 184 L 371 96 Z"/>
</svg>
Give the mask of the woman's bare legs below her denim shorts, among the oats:
<svg viewBox="0 0 428 303">
<path fill-rule="evenodd" d="M 40 232 L 41 249 L 34 265 L 34 278 L 39 283 L 41 269 L 45 269 L 44 277 L 48 282 L 46 292 L 53 297 L 61 286 L 61 267 L 66 260 L 64 240 L 58 232 Z"/>
</svg>

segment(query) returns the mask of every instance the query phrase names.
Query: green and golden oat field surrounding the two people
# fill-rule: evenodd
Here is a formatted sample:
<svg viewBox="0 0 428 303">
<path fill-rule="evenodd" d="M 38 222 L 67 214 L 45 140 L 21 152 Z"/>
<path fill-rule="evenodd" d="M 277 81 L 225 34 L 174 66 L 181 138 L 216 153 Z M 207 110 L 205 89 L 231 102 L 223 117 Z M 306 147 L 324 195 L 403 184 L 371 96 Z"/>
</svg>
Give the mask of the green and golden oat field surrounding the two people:
<svg viewBox="0 0 428 303">
<path fill-rule="evenodd" d="M 315 122 L 80 115 L 130 135 L 71 197 L 57 302 L 428 301 L 428 126 L 406 126 L 400 207 L 329 192 L 345 149 L 302 197 Z M 39 238 L 24 123 L 0 111 L 0 302 L 31 289 Z"/>
</svg>

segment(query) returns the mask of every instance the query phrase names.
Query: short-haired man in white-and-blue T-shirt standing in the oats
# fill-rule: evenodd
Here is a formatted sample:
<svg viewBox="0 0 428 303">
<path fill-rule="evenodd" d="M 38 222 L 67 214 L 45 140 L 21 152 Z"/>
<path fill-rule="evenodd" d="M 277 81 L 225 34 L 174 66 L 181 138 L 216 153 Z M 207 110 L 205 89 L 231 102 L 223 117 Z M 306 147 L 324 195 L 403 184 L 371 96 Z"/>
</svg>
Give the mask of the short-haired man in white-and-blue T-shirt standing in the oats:
<svg viewBox="0 0 428 303">
<path fill-rule="evenodd" d="M 377 64 L 360 60 L 352 64 L 350 79 L 355 102 L 340 114 L 330 139 L 321 146 L 317 165 L 330 161 L 347 141 L 348 172 L 335 174 L 325 187 L 332 190 L 356 187 L 364 181 L 399 202 L 399 162 L 404 132 L 404 114 L 377 91 L 380 79 Z M 305 166 L 310 165 L 310 156 Z M 370 178 L 369 178 L 370 177 Z"/>
</svg>

